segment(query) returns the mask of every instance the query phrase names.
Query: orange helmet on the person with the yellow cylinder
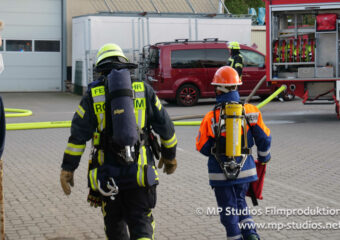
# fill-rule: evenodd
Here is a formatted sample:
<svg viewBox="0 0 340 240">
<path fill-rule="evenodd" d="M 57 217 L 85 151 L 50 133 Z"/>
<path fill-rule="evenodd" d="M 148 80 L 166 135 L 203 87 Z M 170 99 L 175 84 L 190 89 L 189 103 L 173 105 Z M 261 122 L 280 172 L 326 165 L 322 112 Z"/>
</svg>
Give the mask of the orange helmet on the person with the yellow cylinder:
<svg viewBox="0 0 340 240">
<path fill-rule="evenodd" d="M 242 81 L 235 69 L 223 66 L 217 69 L 211 85 L 235 86 L 242 85 Z"/>
</svg>

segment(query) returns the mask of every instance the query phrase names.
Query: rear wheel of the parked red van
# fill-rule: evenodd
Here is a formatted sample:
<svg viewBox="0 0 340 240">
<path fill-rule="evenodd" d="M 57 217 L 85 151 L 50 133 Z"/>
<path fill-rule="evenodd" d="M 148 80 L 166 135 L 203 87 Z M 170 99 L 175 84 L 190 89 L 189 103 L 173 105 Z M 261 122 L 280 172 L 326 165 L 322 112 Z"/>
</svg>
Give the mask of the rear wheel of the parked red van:
<svg viewBox="0 0 340 240">
<path fill-rule="evenodd" d="M 199 95 L 200 92 L 195 85 L 184 84 L 177 91 L 176 101 L 181 106 L 193 106 L 197 103 Z"/>
</svg>

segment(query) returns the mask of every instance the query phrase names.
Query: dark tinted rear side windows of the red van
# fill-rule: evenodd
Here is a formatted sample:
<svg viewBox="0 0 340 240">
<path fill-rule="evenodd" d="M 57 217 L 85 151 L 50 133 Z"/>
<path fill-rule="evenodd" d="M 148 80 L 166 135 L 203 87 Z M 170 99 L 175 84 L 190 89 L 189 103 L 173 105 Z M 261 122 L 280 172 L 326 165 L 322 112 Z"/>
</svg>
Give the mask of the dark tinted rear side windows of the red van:
<svg viewBox="0 0 340 240">
<path fill-rule="evenodd" d="M 172 68 L 219 68 L 229 58 L 227 49 L 186 49 L 171 53 Z"/>
</svg>

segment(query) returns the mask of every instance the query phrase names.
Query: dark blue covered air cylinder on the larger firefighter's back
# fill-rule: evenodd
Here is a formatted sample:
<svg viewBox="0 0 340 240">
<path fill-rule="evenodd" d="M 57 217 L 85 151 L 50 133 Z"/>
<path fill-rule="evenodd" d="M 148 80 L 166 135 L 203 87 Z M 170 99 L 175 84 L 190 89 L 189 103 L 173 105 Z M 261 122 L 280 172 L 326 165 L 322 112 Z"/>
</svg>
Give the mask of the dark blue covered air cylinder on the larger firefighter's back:
<svg viewBox="0 0 340 240">
<path fill-rule="evenodd" d="M 130 72 L 113 69 L 107 76 L 112 118 L 112 140 L 122 146 L 134 146 L 138 140 Z"/>
</svg>

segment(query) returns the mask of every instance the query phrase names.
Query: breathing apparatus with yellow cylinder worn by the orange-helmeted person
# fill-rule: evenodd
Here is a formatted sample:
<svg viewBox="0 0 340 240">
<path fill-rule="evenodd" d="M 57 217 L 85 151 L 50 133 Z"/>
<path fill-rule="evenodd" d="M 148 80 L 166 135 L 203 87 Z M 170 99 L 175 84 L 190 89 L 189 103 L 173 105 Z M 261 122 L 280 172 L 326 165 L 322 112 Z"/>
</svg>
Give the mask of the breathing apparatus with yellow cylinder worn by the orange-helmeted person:
<svg viewBox="0 0 340 240">
<path fill-rule="evenodd" d="M 220 111 L 218 122 L 216 118 L 217 110 Z M 250 125 L 245 117 L 244 106 L 238 102 L 224 102 L 215 105 L 213 112 L 215 144 L 211 153 L 216 158 L 226 179 L 235 180 L 240 174 L 248 155 L 251 154 L 247 138 L 247 125 L 249 127 Z M 221 146 L 222 132 L 226 132 L 225 152 L 222 152 L 223 147 Z M 227 160 L 223 161 L 222 156 L 226 156 Z M 240 163 L 236 160 L 238 157 L 241 157 Z"/>
</svg>

